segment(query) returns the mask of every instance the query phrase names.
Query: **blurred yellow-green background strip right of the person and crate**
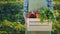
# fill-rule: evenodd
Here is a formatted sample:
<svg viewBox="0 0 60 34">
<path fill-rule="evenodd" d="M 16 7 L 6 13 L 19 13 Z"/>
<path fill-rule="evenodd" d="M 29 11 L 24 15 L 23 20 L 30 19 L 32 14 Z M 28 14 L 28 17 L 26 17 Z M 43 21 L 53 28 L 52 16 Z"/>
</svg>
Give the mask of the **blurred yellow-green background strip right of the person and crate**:
<svg viewBox="0 0 60 34">
<path fill-rule="evenodd" d="M 56 12 L 55 31 L 52 34 L 60 34 L 60 0 L 53 0 L 53 8 Z"/>
</svg>

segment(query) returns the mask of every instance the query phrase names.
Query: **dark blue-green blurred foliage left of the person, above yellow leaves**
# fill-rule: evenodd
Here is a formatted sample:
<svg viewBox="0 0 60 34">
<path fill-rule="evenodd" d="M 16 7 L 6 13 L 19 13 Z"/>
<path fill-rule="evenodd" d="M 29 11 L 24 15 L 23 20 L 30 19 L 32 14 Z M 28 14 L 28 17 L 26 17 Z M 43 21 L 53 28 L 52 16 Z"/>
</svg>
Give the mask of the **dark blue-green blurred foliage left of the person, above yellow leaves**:
<svg viewBox="0 0 60 34">
<path fill-rule="evenodd" d="M 21 20 L 21 23 L 24 23 L 22 9 L 23 6 L 21 4 L 0 4 L 0 21 L 3 21 L 4 19 L 11 22 Z"/>
</svg>

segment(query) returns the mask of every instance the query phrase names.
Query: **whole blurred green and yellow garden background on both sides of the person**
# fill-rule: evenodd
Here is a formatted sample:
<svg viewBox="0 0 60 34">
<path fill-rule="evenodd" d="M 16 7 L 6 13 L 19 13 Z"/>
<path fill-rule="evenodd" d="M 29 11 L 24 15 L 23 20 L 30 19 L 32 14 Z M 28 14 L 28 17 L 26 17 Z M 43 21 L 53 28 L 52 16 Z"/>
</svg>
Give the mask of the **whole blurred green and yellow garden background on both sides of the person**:
<svg viewBox="0 0 60 34">
<path fill-rule="evenodd" d="M 57 22 L 52 34 L 60 34 L 60 0 L 53 0 Z M 25 34 L 24 0 L 0 0 L 0 34 Z"/>
</svg>

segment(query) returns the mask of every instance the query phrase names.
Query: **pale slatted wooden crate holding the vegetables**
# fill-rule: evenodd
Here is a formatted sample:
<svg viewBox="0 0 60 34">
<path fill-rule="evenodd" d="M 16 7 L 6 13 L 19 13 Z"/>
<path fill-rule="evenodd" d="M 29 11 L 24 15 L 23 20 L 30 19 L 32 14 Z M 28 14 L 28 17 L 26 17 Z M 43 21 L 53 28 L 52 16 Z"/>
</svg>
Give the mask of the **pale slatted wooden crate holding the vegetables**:
<svg viewBox="0 0 60 34">
<path fill-rule="evenodd" d="M 27 31 L 51 31 L 52 23 L 44 22 L 41 23 L 39 19 L 36 18 L 27 18 Z"/>
</svg>

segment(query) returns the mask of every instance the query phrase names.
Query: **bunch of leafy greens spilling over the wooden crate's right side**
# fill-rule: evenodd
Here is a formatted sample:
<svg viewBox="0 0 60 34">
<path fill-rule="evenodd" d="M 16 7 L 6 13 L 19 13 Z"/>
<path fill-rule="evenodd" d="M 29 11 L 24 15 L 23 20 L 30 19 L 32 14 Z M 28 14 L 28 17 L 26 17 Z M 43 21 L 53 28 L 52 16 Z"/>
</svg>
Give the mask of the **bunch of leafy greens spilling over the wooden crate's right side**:
<svg viewBox="0 0 60 34">
<path fill-rule="evenodd" d="M 55 13 L 50 8 L 43 8 L 40 11 L 40 19 L 41 21 L 48 20 L 54 22 L 56 20 Z"/>
</svg>

